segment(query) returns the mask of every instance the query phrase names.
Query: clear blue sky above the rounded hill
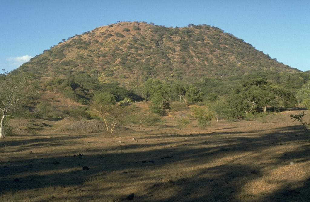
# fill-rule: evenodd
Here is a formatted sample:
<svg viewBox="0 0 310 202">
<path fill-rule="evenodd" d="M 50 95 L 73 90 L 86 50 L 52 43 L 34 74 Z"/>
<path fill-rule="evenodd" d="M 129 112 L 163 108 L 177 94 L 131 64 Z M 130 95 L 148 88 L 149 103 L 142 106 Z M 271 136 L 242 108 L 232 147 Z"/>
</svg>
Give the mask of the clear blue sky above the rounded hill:
<svg viewBox="0 0 310 202">
<path fill-rule="evenodd" d="M 219 27 L 279 62 L 310 70 L 309 0 L 1 0 L 0 19 L 6 71 L 62 39 L 117 21 Z"/>
</svg>

